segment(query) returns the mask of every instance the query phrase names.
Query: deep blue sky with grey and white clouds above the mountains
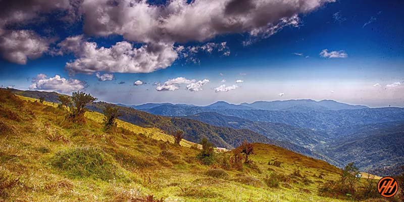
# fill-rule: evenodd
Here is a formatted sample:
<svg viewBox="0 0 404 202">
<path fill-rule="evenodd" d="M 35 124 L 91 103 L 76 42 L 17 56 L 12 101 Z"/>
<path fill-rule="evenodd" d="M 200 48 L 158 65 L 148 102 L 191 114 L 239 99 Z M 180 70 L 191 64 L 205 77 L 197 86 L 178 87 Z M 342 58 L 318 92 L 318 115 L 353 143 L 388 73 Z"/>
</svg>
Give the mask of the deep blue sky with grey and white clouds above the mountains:
<svg viewBox="0 0 404 202">
<path fill-rule="evenodd" d="M 404 107 L 403 1 L 0 0 L 0 85 L 126 105 Z"/>
</svg>

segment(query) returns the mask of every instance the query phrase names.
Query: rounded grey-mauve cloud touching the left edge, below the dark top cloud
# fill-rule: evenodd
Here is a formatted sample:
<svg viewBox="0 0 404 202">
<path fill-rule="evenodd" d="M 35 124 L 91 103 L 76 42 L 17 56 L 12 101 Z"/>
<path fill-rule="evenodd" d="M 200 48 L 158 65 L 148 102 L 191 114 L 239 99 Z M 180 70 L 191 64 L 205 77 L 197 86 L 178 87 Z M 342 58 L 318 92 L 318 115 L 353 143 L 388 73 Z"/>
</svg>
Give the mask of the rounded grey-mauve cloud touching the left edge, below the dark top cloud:
<svg viewBox="0 0 404 202">
<path fill-rule="evenodd" d="M 28 59 L 41 57 L 48 48 L 48 40 L 30 30 L 7 30 L 0 34 L 0 53 L 12 63 L 25 65 Z"/>
</svg>

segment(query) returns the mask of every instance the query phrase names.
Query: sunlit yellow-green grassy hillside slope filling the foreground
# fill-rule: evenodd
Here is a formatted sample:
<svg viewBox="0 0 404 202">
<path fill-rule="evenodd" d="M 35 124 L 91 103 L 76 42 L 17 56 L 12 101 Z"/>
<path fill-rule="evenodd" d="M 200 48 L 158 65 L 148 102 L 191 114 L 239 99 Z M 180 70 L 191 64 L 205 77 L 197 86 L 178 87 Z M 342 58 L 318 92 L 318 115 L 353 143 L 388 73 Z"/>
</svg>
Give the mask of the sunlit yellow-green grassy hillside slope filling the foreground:
<svg viewBox="0 0 404 202">
<path fill-rule="evenodd" d="M 47 106 L 52 103 L 27 100 L 0 91 L 0 109 L 8 112 L 0 116 L 0 182 L 9 184 L 0 191 L 0 201 L 131 201 L 146 194 L 166 201 L 339 201 L 316 192 L 322 182 L 338 177 L 337 168 L 280 147 L 255 144 L 252 159 L 261 172 L 245 167 L 243 172 L 226 171 L 225 179 L 213 178 L 205 175 L 210 167 L 195 161 L 199 151 L 185 147 L 188 142 L 176 147 L 149 138 L 171 139 L 158 129 L 120 121 L 133 132 L 108 134 L 102 130 L 101 114 L 86 113 L 87 123 L 78 126 L 63 121 L 62 110 Z M 55 134 L 63 138 L 47 139 Z M 83 148 L 96 148 L 93 152 L 105 156 L 109 166 L 95 167 L 95 174 L 88 176 L 55 167 L 55 158 L 72 157 L 66 154 Z M 80 155 L 85 157 L 80 161 L 92 160 Z M 281 167 L 267 165 L 274 160 L 282 162 Z M 76 161 L 68 160 L 71 169 L 82 169 Z M 271 172 L 290 174 L 296 169 L 313 183 L 269 188 L 262 181 Z M 108 179 L 108 172 L 120 177 Z M 324 179 L 314 176 L 321 172 Z"/>
</svg>

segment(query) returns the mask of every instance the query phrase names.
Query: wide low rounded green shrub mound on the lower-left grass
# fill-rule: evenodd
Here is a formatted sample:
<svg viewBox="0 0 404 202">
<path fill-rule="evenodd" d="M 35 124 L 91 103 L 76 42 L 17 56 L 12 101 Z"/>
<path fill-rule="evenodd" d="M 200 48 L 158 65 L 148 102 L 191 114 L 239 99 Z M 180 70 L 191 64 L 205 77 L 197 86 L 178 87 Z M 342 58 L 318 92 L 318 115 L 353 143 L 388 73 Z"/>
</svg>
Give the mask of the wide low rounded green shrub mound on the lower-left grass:
<svg viewBox="0 0 404 202">
<path fill-rule="evenodd" d="M 51 165 L 65 171 L 70 177 L 92 177 L 94 179 L 125 179 L 125 175 L 103 150 L 93 147 L 77 147 L 59 151 Z"/>
</svg>

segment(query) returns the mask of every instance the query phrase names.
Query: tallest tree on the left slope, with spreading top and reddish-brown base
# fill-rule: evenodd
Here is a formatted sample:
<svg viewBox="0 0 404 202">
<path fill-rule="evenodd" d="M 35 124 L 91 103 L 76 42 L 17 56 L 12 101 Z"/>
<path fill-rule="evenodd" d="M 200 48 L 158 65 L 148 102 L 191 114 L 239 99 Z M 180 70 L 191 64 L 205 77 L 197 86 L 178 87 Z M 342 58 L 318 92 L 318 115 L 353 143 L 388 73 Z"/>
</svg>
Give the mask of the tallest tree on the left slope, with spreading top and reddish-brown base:
<svg viewBox="0 0 404 202">
<path fill-rule="evenodd" d="M 72 101 L 74 103 L 74 107 L 72 106 L 72 118 L 73 122 L 85 122 L 84 119 L 84 107 L 97 100 L 97 98 L 91 96 L 89 93 L 76 91 L 72 93 Z"/>
</svg>

